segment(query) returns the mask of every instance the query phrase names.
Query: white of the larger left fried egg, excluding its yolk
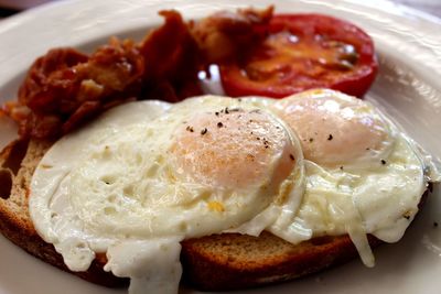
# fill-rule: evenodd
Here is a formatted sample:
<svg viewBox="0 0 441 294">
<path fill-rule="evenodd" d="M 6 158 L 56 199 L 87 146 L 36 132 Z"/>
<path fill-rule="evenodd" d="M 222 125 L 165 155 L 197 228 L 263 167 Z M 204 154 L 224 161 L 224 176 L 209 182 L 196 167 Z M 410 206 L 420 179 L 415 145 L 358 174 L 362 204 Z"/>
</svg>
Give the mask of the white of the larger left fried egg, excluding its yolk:
<svg viewBox="0 0 441 294">
<path fill-rule="evenodd" d="M 107 252 L 105 270 L 130 276 L 131 292 L 174 293 L 181 274 L 176 265 L 181 240 L 219 233 L 252 219 L 260 230 L 282 215 L 291 219 L 303 195 L 302 153 L 291 129 L 271 113 L 261 116 L 284 133 L 292 144 L 289 155 L 295 159 L 286 178 L 278 178 L 273 166 L 288 151 L 276 153 L 266 164 L 263 182 L 245 187 L 189 181 L 178 168 L 169 152 L 176 130 L 185 127 L 194 112 L 215 116 L 227 112 L 226 108 L 240 109 L 244 116 L 256 110 L 236 99 L 211 96 L 174 106 L 132 102 L 63 138 L 33 175 L 30 214 L 36 230 L 73 271 L 87 270 L 96 253 Z M 283 206 L 289 209 L 283 211 Z M 268 209 L 278 214 L 256 218 Z M 131 262 L 127 257 L 132 257 Z M 140 270 L 159 260 L 162 271 Z M 174 286 L 158 282 L 161 280 Z"/>
</svg>

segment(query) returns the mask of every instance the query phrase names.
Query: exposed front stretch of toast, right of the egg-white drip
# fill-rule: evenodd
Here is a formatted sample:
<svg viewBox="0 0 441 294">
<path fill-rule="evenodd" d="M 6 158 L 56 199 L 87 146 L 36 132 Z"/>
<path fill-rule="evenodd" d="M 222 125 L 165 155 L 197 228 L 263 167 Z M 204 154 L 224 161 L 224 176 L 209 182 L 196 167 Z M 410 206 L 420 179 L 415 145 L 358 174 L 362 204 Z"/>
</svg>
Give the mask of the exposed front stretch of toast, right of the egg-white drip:
<svg viewBox="0 0 441 294">
<path fill-rule="evenodd" d="M 373 247 L 381 243 L 372 236 L 368 240 Z M 224 233 L 186 240 L 181 257 L 187 283 L 203 291 L 229 291 L 289 281 L 357 255 L 348 236 L 293 246 L 262 232 L 259 237 Z"/>
</svg>

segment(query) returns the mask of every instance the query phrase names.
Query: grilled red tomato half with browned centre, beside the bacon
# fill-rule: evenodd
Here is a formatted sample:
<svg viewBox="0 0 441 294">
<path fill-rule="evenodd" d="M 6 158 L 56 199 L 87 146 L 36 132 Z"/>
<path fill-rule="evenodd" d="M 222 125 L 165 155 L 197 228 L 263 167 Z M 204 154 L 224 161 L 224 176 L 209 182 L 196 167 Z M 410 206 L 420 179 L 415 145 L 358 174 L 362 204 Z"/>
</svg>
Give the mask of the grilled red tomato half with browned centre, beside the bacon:
<svg viewBox="0 0 441 294">
<path fill-rule="evenodd" d="M 362 97 L 377 73 L 372 39 L 322 14 L 277 14 L 268 36 L 243 57 L 219 64 L 227 95 L 273 98 L 311 88 Z"/>
</svg>

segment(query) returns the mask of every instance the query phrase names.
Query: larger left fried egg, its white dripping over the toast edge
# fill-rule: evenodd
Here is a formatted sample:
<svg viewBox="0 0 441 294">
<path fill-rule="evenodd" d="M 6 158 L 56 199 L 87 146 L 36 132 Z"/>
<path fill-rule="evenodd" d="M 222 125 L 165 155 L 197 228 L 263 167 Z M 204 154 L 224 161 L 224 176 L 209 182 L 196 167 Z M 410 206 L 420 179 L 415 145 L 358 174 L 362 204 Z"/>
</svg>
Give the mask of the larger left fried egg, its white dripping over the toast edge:
<svg viewBox="0 0 441 294">
<path fill-rule="evenodd" d="M 114 122 L 125 116 L 138 119 Z M 30 211 L 71 270 L 107 252 L 105 270 L 130 276 L 131 292 L 176 293 L 181 240 L 268 207 L 295 211 L 303 170 L 299 140 L 271 112 L 211 96 L 135 102 L 55 143 L 34 173 Z M 261 229 L 271 216 L 258 219 Z"/>
</svg>

